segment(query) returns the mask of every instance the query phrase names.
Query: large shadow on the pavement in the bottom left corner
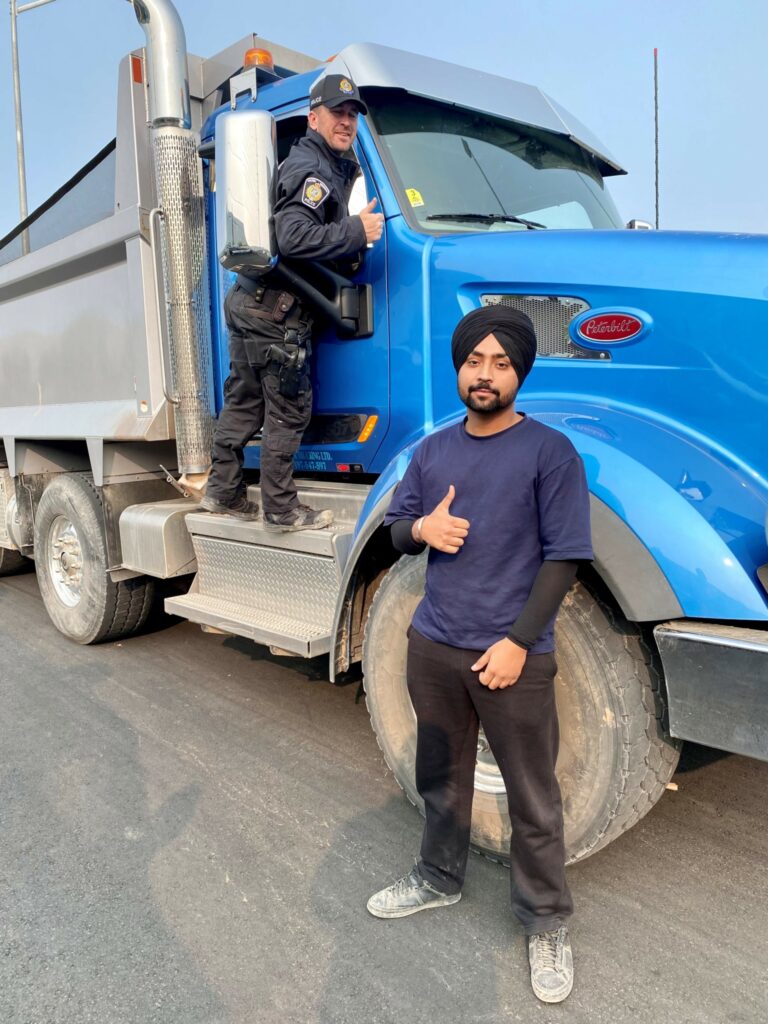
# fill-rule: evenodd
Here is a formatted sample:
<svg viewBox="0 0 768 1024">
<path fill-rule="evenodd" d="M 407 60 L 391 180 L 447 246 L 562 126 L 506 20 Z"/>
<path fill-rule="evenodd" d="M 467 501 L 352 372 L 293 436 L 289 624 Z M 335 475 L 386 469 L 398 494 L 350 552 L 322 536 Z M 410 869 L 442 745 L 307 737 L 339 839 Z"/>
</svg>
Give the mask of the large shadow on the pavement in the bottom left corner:
<svg viewBox="0 0 768 1024">
<path fill-rule="evenodd" d="M 70 670 L 73 671 L 73 670 Z M 56 673 L 47 707 L 35 688 L 5 698 L 0 816 L 0 1019 L 45 1024 L 213 1024 L 217 993 L 166 920 L 154 858 L 196 813 L 187 785 L 153 809 L 138 738 L 97 696 L 94 665 Z M 45 715 L 47 728 L 40 729 Z"/>
</svg>

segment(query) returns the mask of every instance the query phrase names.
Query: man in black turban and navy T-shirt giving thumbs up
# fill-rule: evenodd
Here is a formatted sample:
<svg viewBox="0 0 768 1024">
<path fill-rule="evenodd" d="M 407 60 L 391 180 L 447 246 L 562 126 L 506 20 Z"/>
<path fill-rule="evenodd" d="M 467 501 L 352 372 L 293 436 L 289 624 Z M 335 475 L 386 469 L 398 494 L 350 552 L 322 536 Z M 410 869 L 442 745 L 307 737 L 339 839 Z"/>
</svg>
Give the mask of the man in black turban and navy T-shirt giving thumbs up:
<svg viewBox="0 0 768 1024">
<path fill-rule="evenodd" d="M 559 1002 L 573 962 L 554 624 L 579 562 L 593 555 L 581 458 L 564 434 L 515 409 L 536 348 L 532 324 L 515 309 L 461 321 L 452 355 L 467 416 L 424 438 L 385 519 L 397 550 L 429 551 L 408 650 L 426 821 L 416 866 L 368 909 L 402 918 L 461 898 L 482 725 L 507 788 L 512 909 L 531 984 Z"/>
</svg>

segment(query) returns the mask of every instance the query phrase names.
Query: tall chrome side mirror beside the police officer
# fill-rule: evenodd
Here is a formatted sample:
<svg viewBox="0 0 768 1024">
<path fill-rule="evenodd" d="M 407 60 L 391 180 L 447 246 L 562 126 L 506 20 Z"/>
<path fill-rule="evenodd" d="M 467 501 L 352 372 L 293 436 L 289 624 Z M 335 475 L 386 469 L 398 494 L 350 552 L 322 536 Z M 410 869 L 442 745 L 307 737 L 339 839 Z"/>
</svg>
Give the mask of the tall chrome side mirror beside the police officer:
<svg viewBox="0 0 768 1024">
<path fill-rule="evenodd" d="M 227 111 L 216 121 L 216 253 L 227 270 L 249 276 L 278 262 L 272 214 L 278 171 L 274 118 Z"/>
</svg>

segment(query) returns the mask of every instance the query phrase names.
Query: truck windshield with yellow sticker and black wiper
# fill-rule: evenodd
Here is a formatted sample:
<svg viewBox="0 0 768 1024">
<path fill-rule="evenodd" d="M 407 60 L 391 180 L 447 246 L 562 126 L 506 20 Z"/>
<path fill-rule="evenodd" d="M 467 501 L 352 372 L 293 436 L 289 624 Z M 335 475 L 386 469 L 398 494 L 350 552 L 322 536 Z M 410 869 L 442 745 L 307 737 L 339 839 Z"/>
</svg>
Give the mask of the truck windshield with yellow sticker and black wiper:
<svg viewBox="0 0 768 1024">
<path fill-rule="evenodd" d="M 575 142 L 481 111 L 366 90 L 382 156 L 428 231 L 622 227 L 595 158 Z"/>
</svg>

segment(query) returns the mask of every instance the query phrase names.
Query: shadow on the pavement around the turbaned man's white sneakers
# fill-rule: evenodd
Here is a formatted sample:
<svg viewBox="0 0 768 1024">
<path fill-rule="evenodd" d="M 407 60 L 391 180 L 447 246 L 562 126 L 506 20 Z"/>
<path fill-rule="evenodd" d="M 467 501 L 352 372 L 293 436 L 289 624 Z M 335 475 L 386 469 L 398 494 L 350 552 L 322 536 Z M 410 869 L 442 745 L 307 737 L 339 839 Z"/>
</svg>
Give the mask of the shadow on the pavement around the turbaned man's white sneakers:
<svg viewBox="0 0 768 1024">
<path fill-rule="evenodd" d="M 485 900 L 470 899 L 394 921 L 373 918 L 366 909 L 373 892 L 410 869 L 409 856 L 419 848 L 421 819 L 407 815 L 403 836 L 403 806 L 402 799 L 392 798 L 344 822 L 314 876 L 312 908 L 332 942 L 314 1020 L 318 1024 L 499 1021 L 495 946 L 501 935 L 505 957 L 513 949 L 515 961 L 522 948 L 504 898 L 506 872 L 497 920 L 492 923 L 483 913 Z M 393 838 L 387 849 L 377 844 L 383 829 Z M 367 1008 L 365 1018 L 361 1007 Z"/>
</svg>

